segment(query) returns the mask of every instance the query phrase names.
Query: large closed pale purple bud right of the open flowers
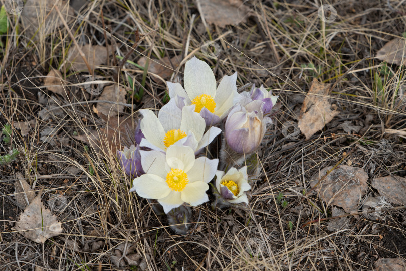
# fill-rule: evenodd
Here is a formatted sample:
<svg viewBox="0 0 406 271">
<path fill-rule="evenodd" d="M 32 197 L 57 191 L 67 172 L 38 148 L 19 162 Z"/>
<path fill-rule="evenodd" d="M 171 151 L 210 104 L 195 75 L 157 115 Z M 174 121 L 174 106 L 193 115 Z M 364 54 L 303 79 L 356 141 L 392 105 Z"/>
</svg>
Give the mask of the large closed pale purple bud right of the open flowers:
<svg viewBox="0 0 406 271">
<path fill-rule="evenodd" d="M 224 138 L 232 150 L 248 155 L 261 144 L 266 125 L 272 121 L 262 113 L 263 101 L 245 102 L 247 100 L 241 100 L 231 109 L 225 124 Z"/>
</svg>

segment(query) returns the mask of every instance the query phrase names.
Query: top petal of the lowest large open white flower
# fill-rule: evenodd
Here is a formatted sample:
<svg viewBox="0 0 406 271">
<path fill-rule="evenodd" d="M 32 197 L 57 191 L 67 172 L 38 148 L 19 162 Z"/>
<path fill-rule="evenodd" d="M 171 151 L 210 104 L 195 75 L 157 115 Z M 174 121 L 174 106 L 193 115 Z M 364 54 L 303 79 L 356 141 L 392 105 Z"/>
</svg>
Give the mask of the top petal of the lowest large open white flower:
<svg viewBox="0 0 406 271">
<path fill-rule="evenodd" d="M 187 173 L 194 165 L 194 151 L 189 146 L 171 145 L 166 150 L 166 162 L 170 168 L 181 169 Z"/>
</svg>

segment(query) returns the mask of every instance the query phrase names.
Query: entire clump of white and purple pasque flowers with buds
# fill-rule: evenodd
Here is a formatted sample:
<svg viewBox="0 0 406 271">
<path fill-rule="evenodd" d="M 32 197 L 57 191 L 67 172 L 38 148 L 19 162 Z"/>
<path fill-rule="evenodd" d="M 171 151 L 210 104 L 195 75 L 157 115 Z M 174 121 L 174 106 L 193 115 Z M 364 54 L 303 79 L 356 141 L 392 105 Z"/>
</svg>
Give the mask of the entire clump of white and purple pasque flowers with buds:
<svg viewBox="0 0 406 271">
<path fill-rule="evenodd" d="M 236 81 L 237 73 L 226 75 L 216 87 L 209 65 L 193 57 L 185 65 L 184 88 L 167 82 L 170 101 L 158 115 L 140 110 L 134 145 L 117 152 L 123 172 L 134 178 L 130 191 L 157 200 L 173 221 L 190 213 L 184 203 L 209 200 L 214 178 L 217 203 L 248 204 L 245 158 L 260 146 L 278 97 L 263 86 L 239 94 Z M 209 149 L 219 134 L 221 150 Z"/>
</svg>

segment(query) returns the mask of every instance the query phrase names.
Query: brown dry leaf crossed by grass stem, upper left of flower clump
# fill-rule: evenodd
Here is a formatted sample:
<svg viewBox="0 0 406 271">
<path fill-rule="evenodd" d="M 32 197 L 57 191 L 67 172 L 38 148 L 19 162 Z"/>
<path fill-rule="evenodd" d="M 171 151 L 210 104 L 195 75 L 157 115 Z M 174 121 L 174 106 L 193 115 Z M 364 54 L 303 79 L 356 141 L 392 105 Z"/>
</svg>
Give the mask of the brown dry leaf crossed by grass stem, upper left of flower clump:
<svg viewBox="0 0 406 271">
<path fill-rule="evenodd" d="M 97 100 L 125 103 L 125 94 L 126 94 L 125 89 L 118 87 L 117 85 L 110 85 L 106 86 L 103 89 L 103 93 L 99 96 Z M 119 113 L 124 112 L 124 105 L 104 102 L 99 102 L 96 105 L 96 109 L 106 116 L 108 116 L 109 114 L 110 115 L 117 114 L 117 108 Z"/>
</svg>

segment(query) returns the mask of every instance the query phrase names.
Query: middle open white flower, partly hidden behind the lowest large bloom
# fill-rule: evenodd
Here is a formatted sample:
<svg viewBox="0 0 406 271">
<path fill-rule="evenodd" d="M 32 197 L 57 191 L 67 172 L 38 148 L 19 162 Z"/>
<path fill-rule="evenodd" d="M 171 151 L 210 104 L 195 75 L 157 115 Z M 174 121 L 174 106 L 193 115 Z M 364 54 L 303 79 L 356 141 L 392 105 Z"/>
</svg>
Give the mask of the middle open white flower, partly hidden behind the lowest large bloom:
<svg viewBox="0 0 406 271">
<path fill-rule="evenodd" d="M 162 106 L 158 117 L 148 109 L 140 110 L 143 115 L 141 131 L 144 137 L 141 147 L 165 151 L 172 144 L 190 146 L 195 153 L 209 145 L 221 132 L 217 127 L 210 127 L 205 132 L 205 120 L 196 112 L 194 105 L 176 106 L 174 99 Z"/>
</svg>

